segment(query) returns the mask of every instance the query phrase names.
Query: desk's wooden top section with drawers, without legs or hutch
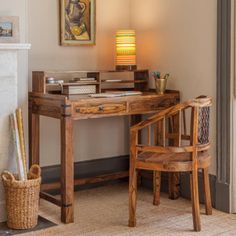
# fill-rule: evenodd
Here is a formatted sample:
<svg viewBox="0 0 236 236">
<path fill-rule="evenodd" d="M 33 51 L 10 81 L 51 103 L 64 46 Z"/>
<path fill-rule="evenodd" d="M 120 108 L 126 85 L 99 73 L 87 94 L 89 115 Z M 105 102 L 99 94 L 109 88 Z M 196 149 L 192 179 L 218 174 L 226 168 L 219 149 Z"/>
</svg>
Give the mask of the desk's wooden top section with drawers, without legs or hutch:
<svg viewBox="0 0 236 236">
<path fill-rule="evenodd" d="M 89 96 L 65 96 L 29 93 L 29 109 L 32 113 L 61 119 L 73 120 L 148 114 L 177 104 L 178 91 L 168 90 L 165 94 L 153 91 L 142 95 L 114 98 L 91 98 Z"/>
</svg>

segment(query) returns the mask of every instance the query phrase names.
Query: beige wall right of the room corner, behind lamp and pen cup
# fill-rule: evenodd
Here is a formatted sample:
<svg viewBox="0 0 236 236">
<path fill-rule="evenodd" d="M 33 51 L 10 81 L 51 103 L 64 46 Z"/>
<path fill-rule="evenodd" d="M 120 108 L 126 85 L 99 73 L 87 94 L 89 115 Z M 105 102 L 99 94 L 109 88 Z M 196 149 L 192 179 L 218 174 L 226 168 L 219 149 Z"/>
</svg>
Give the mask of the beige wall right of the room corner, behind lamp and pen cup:
<svg viewBox="0 0 236 236">
<path fill-rule="evenodd" d="M 138 66 L 170 72 L 168 87 L 182 100 L 207 94 L 212 112 L 211 173 L 216 172 L 216 0 L 131 0 Z"/>
</svg>

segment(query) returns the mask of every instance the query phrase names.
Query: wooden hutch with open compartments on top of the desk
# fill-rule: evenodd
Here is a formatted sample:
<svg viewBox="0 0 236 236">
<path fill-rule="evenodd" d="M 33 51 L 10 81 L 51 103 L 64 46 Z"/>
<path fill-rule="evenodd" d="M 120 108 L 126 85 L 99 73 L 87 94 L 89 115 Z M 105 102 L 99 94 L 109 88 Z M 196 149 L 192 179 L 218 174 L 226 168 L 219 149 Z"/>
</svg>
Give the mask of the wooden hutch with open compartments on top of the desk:
<svg viewBox="0 0 236 236">
<path fill-rule="evenodd" d="M 109 76 L 110 75 L 110 76 Z M 110 77 L 113 77 L 110 79 Z M 96 93 L 107 90 L 148 90 L 148 70 L 136 71 L 35 71 L 33 72 L 33 91 L 41 93 L 60 93 L 59 84 L 47 84 L 47 78 L 63 80 L 63 86 L 95 86 Z M 94 78 L 94 81 L 79 81 L 71 83 L 75 78 Z M 117 79 L 119 78 L 119 79 Z"/>
</svg>

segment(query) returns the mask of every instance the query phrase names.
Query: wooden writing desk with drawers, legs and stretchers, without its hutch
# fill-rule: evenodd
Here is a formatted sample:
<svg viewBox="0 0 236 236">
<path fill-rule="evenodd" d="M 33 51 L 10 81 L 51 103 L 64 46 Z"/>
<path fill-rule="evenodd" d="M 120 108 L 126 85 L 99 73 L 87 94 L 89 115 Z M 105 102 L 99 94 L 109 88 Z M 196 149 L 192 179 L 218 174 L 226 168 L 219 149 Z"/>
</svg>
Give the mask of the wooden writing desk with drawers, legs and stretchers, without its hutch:
<svg viewBox="0 0 236 236">
<path fill-rule="evenodd" d="M 92 179 L 74 180 L 73 122 L 80 119 L 148 114 L 165 109 L 179 102 L 179 93 L 164 95 L 146 92 L 142 96 L 119 98 L 88 98 L 42 93 L 29 93 L 29 156 L 30 165 L 39 164 L 39 117 L 46 116 L 61 121 L 61 183 L 42 185 L 41 197 L 61 207 L 61 220 L 73 222 L 74 184 L 96 183 L 102 180 L 127 177 L 128 172 L 112 173 Z M 61 199 L 43 190 L 61 188 Z"/>
</svg>

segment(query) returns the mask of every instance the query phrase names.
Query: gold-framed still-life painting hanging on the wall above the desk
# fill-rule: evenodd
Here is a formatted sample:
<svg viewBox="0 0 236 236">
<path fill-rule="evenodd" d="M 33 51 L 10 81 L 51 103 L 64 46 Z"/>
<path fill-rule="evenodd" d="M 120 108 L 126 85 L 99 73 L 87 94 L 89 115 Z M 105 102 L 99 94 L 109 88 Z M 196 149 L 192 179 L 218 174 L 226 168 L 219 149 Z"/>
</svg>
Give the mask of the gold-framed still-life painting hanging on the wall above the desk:
<svg viewBox="0 0 236 236">
<path fill-rule="evenodd" d="M 60 1 L 60 44 L 95 45 L 96 0 Z"/>
</svg>

